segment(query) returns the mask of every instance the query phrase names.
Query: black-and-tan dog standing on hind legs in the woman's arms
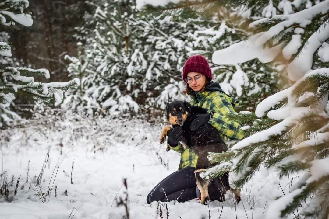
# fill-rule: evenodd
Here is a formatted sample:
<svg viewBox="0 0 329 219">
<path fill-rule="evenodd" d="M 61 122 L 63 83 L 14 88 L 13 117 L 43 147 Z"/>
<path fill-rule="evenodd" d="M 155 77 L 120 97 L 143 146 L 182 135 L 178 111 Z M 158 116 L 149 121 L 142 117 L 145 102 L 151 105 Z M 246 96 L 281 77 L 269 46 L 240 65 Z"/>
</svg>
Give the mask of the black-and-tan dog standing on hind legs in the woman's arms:
<svg viewBox="0 0 329 219">
<path fill-rule="evenodd" d="M 227 151 L 227 146 L 220 138 L 217 129 L 212 125 L 206 124 L 198 130 L 190 130 L 190 124 L 196 118 L 196 115 L 205 114 L 207 111 L 201 107 L 191 106 L 187 101 L 174 101 L 167 104 L 166 112 L 167 120 L 173 127 L 177 125 L 182 127 L 183 141 L 180 143 L 184 149 L 190 148 L 198 154 L 195 179 L 201 193 L 201 204 L 205 204 L 210 200 L 210 197 L 221 202 L 225 201 L 224 194 L 226 194 L 227 190 L 231 189 L 228 183 L 228 173 L 214 179 L 202 179 L 200 173 L 209 167 L 215 166 L 215 164 L 209 162 L 207 158 L 208 153 Z M 166 134 L 170 128 L 170 126 L 164 127 L 160 137 L 160 143 L 165 142 Z M 170 148 L 167 145 L 166 151 L 169 150 Z M 231 190 L 235 194 L 237 203 L 239 203 L 241 200 L 239 190 Z"/>
</svg>

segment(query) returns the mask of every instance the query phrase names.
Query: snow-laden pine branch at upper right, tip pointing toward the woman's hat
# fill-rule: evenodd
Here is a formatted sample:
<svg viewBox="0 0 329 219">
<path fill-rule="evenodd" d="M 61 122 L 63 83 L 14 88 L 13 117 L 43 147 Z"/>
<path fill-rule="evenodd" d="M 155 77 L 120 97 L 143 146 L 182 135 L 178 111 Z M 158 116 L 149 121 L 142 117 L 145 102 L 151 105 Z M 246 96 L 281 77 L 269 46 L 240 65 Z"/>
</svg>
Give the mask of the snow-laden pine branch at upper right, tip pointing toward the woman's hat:
<svg viewBox="0 0 329 219">
<path fill-rule="evenodd" d="M 249 27 L 259 33 L 216 51 L 213 62 L 219 65 L 237 64 L 258 58 L 266 63 L 282 54 L 290 61 L 287 67 L 290 80 L 297 81 L 312 68 L 313 54 L 322 44 L 325 47 L 329 35 L 328 19 L 329 1 L 325 0 L 293 14 L 254 21 Z"/>
</svg>

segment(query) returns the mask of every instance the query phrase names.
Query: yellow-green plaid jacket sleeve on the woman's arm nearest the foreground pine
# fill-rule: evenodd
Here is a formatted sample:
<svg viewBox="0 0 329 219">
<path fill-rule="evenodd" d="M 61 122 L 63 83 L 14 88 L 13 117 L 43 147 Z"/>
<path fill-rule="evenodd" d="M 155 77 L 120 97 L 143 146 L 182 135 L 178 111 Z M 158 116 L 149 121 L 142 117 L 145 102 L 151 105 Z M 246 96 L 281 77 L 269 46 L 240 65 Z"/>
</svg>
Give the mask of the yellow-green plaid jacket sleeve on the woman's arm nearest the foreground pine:
<svg viewBox="0 0 329 219">
<path fill-rule="evenodd" d="M 225 114 L 233 112 L 230 100 L 225 96 L 216 97 L 210 107 L 211 117 L 208 124 L 214 126 L 220 133 L 230 139 L 242 139 L 244 137 L 241 124 L 234 120 L 228 120 Z"/>
</svg>

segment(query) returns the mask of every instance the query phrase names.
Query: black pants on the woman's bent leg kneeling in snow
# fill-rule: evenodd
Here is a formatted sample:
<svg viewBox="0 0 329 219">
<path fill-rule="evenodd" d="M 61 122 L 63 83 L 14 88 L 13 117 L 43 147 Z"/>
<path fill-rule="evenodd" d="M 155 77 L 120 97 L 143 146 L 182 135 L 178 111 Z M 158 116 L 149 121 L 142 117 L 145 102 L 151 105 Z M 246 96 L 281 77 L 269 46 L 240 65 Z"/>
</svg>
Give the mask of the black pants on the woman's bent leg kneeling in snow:
<svg viewBox="0 0 329 219">
<path fill-rule="evenodd" d="M 147 195 L 146 202 L 185 202 L 196 198 L 195 167 L 187 166 L 173 172 L 156 185 Z"/>
</svg>

